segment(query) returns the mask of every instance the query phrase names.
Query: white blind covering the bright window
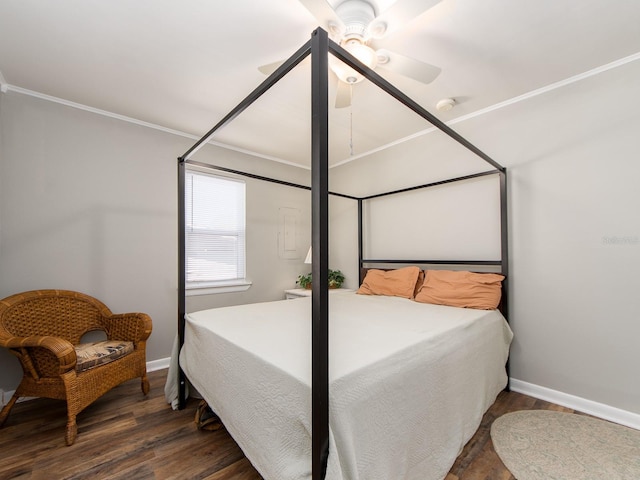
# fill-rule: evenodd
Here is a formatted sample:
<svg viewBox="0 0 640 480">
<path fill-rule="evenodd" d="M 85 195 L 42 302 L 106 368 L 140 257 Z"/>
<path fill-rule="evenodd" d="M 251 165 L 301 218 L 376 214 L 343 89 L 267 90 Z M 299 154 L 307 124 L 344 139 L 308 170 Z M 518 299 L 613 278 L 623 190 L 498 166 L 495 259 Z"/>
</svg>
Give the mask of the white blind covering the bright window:
<svg viewBox="0 0 640 480">
<path fill-rule="evenodd" d="M 199 171 L 185 174 L 186 287 L 245 278 L 245 183 Z"/>
</svg>

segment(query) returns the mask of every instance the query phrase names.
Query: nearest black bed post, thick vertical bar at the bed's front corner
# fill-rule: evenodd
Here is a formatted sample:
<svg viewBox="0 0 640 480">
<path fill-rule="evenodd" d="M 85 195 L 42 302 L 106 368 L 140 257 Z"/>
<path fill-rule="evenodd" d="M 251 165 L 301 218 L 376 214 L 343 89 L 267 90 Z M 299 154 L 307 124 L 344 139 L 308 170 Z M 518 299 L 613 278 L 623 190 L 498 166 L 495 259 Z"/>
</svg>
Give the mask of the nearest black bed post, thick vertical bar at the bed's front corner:
<svg viewBox="0 0 640 480">
<path fill-rule="evenodd" d="M 329 59 L 327 32 L 311 35 L 311 472 L 329 456 Z"/>
</svg>

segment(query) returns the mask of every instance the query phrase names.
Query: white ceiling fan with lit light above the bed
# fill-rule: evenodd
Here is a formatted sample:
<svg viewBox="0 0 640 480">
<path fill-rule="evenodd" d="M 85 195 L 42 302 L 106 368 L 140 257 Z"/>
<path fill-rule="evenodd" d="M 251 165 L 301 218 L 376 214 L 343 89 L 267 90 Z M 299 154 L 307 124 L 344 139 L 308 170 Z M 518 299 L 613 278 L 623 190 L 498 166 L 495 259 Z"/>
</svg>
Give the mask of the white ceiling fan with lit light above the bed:
<svg viewBox="0 0 640 480">
<path fill-rule="evenodd" d="M 369 0 L 344 0 L 335 9 L 327 0 L 299 0 L 331 39 L 371 69 L 390 70 L 421 83 L 431 83 L 440 74 L 440 68 L 398 53 L 377 48 L 389 33 L 425 12 L 441 0 L 397 0 L 383 12 L 377 12 Z M 264 65 L 262 73 L 270 74 L 281 62 Z M 333 56 L 329 63 L 338 78 L 336 108 L 351 105 L 351 88 L 364 80 L 358 72 Z"/>
</svg>

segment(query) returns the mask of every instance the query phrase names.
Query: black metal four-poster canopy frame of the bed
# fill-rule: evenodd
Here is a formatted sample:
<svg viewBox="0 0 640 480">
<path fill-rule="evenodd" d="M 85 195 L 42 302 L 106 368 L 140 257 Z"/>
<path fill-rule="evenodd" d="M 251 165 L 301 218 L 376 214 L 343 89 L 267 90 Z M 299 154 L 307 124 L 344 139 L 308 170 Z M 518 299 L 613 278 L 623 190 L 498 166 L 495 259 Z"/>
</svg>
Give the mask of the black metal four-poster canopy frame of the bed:
<svg viewBox="0 0 640 480">
<path fill-rule="evenodd" d="M 473 152 L 493 167 L 493 170 L 438 181 L 415 187 L 394 190 L 390 192 L 355 197 L 328 189 L 329 178 L 329 103 L 328 83 L 329 65 L 328 55 L 332 54 L 349 67 L 356 70 L 369 81 L 373 82 L 383 91 L 391 95 L 400 103 L 420 115 L 453 140 Z M 211 165 L 191 160 L 200 148 L 219 129 L 227 125 L 247 107 L 254 103 L 282 77 L 295 68 L 307 56 L 311 56 L 311 187 L 286 182 L 278 179 L 255 175 L 227 167 Z M 258 180 L 277 183 L 295 188 L 311 191 L 311 229 L 312 229 L 312 275 L 318 279 L 312 284 L 312 351 L 311 351 L 311 428 L 312 428 L 312 479 L 322 480 L 325 477 L 327 459 L 329 455 L 329 195 L 335 195 L 357 201 L 358 203 L 358 264 L 360 272 L 365 264 L 424 264 L 424 265 L 476 265 L 499 267 L 505 275 L 503 282 L 502 311 L 507 316 L 508 306 L 508 225 L 507 225 L 507 171 L 506 168 L 495 162 L 491 157 L 475 147 L 465 138 L 453 131 L 446 124 L 434 117 L 431 113 L 411 100 L 396 87 L 387 82 L 370 68 L 364 66 L 358 60 L 328 38 L 327 32 L 318 28 L 311 34 L 311 39 L 300 47 L 288 60 L 286 60 L 275 72 L 264 80 L 253 92 L 240 102 L 231 112 L 220 120 L 209 132 L 198 140 L 184 155 L 178 158 L 178 341 L 180 348 L 184 344 L 184 329 L 186 315 L 186 290 L 185 290 L 185 169 L 186 164 L 224 171 L 242 175 Z M 500 176 L 500 230 L 501 230 L 501 256 L 499 260 L 380 260 L 363 258 L 363 229 L 362 212 L 363 202 L 373 198 L 404 193 L 412 190 L 439 186 L 452 182 L 459 182 L 487 175 Z M 360 278 L 362 281 L 362 278 Z M 186 378 L 181 368 L 179 370 L 179 408 L 186 404 Z"/>
</svg>

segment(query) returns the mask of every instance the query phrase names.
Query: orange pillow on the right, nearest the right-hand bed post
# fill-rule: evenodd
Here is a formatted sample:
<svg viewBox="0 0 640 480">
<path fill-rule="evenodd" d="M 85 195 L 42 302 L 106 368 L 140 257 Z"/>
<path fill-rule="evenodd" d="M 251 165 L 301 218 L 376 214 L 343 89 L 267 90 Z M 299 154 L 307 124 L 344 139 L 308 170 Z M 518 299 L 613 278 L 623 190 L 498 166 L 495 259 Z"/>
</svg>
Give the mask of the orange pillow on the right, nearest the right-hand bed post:
<svg viewBox="0 0 640 480">
<path fill-rule="evenodd" d="M 500 303 L 502 280 L 504 276 L 497 273 L 428 270 L 415 301 L 494 310 Z"/>
</svg>

